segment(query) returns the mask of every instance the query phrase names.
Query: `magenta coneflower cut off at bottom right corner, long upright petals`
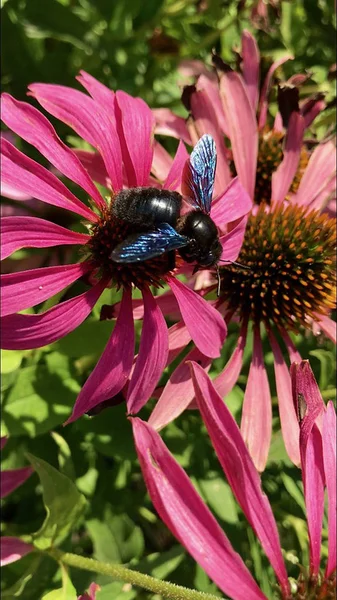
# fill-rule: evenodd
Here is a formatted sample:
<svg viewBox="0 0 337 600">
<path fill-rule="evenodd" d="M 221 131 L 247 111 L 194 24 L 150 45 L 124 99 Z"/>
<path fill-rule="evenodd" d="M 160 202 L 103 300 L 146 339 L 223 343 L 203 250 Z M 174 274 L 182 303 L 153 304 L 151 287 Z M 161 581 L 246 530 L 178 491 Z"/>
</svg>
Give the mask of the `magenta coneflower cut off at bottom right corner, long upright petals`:
<svg viewBox="0 0 337 600">
<path fill-rule="evenodd" d="M 296 590 L 291 590 L 274 515 L 240 430 L 205 371 L 196 363 L 190 365 L 197 404 L 214 450 L 247 521 L 275 571 L 280 597 L 283 600 L 334 598 L 336 414 L 332 402 L 325 407 L 309 364 L 303 361 L 292 366 L 296 407 L 301 403 L 298 411 L 301 415 L 301 466 L 310 541 L 310 565 L 307 570 L 302 570 Z M 159 434 L 139 418 L 131 421 L 151 500 L 173 535 L 230 598 L 266 599 Z M 323 571 L 320 552 L 325 488 L 328 498 L 328 559 Z"/>
</svg>

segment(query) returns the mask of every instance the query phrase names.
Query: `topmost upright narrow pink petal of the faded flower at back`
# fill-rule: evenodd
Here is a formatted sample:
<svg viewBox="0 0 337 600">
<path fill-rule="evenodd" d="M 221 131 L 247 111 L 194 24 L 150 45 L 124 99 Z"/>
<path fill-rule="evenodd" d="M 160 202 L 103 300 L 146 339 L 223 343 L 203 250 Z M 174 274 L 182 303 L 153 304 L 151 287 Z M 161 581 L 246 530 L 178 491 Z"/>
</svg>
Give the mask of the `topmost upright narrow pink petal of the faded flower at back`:
<svg viewBox="0 0 337 600">
<path fill-rule="evenodd" d="M 257 109 L 259 100 L 259 79 L 260 79 L 260 52 L 249 31 L 242 33 L 242 75 L 247 88 L 248 98 L 254 112 Z"/>
</svg>

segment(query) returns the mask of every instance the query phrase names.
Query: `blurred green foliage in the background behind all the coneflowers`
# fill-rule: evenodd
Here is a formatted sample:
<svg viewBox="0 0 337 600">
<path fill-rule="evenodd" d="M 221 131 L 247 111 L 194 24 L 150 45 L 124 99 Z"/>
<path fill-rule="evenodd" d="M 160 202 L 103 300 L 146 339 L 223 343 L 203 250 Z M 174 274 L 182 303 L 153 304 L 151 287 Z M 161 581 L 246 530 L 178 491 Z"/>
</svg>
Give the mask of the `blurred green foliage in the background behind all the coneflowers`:
<svg viewBox="0 0 337 600">
<path fill-rule="evenodd" d="M 259 4 L 255 0 L 3 0 L 2 89 L 24 99 L 29 83 L 73 86 L 77 73 L 84 69 L 113 89 L 139 95 L 153 107 L 171 107 L 183 114 L 180 96 L 186 81 L 177 70 L 181 61 L 198 59 L 210 65 L 214 48 L 225 61 L 234 64 L 233 49 L 239 48 L 241 32 L 248 28 L 266 57 L 275 59 L 289 51 L 294 54 L 295 60 L 284 67 L 285 77 L 312 73 L 302 93 L 326 93 L 330 108 L 320 116 L 325 131 L 334 122 L 335 110 L 333 3 L 266 0 L 268 18 L 259 18 Z M 61 135 L 69 133 L 60 123 L 57 129 Z M 27 258 L 25 253 L 17 253 L 17 259 L 22 258 Z M 81 284 L 76 285 L 74 293 L 84 291 Z M 86 497 L 86 512 L 73 524 L 64 549 L 129 563 L 154 576 L 219 595 L 216 586 L 176 544 L 154 513 L 136 461 L 124 406 L 62 427 L 111 331 L 111 323 L 98 321 L 100 306 L 117 299 L 106 291 L 93 315 L 60 342 L 41 350 L 3 353 L 2 435 L 10 436 L 3 468 L 26 464 L 25 453 L 29 451 L 73 481 Z M 42 310 L 49 306 L 50 301 Z M 235 326 L 231 326 L 212 376 L 227 361 L 236 339 Z M 311 359 L 324 398 L 335 398 L 332 344 L 312 335 L 299 336 L 297 341 L 302 356 Z M 273 380 L 268 345 L 265 352 Z M 226 399 L 238 418 L 248 368 L 249 348 L 239 383 Z M 168 376 L 164 374 L 162 383 Z M 272 392 L 274 436 L 263 484 L 278 521 L 288 571 L 297 577 L 298 562 L 307 564 L 308 558 L 301 477 L 285 454 L 275 389 Z M 143 409 L 143 418 L 148 418 L 153 405 L 151 401 Z M 272 598 L 273 574 L 247 530 L 197 413 L 182 415 L 163 431 L 163 437 L 266 595 Z M 2 534 L 22 535 L 40 528 L 45 516 L 43 491 L 34 474 L 3 501 Z M 66 504 L 67 500 L 60 497 L 61 512 Z M 324 542 L 326 554 L 326 537 Z M 4 569 L 4 598 L 39 600 L 48 590 L 60 587 L 56 563 L 45 558 L 37 565 L 35 560 L 27 556 Z M 92 580 L 90 574 L 75 570 L 71 577 L 78 593 Z M 102 585 L 97 600 L 159 600 L 102 576 L 94 579 Z"/>
</svg>

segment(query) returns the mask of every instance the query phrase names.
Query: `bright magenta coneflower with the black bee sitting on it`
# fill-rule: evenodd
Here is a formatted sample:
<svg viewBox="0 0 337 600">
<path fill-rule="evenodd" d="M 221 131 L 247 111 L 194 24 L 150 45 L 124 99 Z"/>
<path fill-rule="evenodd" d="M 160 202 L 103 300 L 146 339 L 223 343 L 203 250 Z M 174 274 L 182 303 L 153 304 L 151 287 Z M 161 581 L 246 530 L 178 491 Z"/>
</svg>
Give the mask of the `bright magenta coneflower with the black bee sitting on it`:
<svg viewBox="0 0 337 600">
<path fill-rule="evenodd" d="M 154 143 L 154 118 L 143 100 L 122 91 L 114 93 L 84 72 L 78 80 L 90 96 L 75 89 L 44 84 L 32 85 L 30 94 L 97 152 L 75 153 L 58 138 L 52 125 L 36 108 L 8 94 L 2 96 L 5 124 L 35 146 L 59 173 L 82 188 L 90 204 L 90 207 L 85 205 L 54 173 L 2 139 L 4 183 L 43 202 L 72 211 L 85 220 L 89 230 L 89 233 L 77 233 L 34 217 L 2 220 L 3 257 L 24 247 L 73 244 L 80 247 L 80 260 L 74 264 L 2 277 L 2 346 L 30 349 L 50 344 L 86 319 L 106 287 L 113 285 L 123 291 L 122 309 L 110 340 L 82 388 L 69 421 L 118 394 L 130 375 L 134 362 L 133 286 L 141 290 L 145 310 L 139 354 L 128 382 L 129 412 L 137 412 L 146 402 L 168 358 L 167 327 L 151 286 L 158 287 L 165 282 L 171 286 L 190 336 L 204 354 L 218 356 L 226 334 L 219 313 L 174 277 L 167 254 L 132 265 L 111 260 L 114 247 L 127 234 L 133 233 L 130 225 L 116 222 L 111 211 L 114 196 L 123 187 L 180 189 L 188 153 L 180 143 L 172 161 L 164 148 Z M 105 186 L 106 197 L 93 181 Z M 224 191 L 224 195 L 228 202 L 220 195 L 213 203 L 212 218 L 215 223 L 221 222 L 225 234 L 226 218 L 227 222 L 242 221 L 251 203 L 238 180 L 227 192 Z M 242 241 L 240 232 L 239 238 Z M 221 241 L 226 254 L 226 234 Z M 239 247 L 235 248 L 235 256 Z M 227 253 L 231 254 L 230 248 Z M 46 312 L 20 314 L 20 311 L 62 292 L 80 278 L 92 285 L 85 293 Z"/>
</svg>

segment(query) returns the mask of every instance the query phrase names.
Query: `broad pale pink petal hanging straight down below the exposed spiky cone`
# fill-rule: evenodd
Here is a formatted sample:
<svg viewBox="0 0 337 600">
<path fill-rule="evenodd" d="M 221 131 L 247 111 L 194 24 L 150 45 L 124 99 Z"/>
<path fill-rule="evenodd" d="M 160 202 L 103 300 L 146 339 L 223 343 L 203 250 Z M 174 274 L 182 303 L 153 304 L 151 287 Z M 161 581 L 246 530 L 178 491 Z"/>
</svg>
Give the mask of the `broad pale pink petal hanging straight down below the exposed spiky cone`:
<svg viewBox="0 0 337 600">
<path fill-rule="evenodd" d="M 271 439 L 272 410 L 267 372 L 258 327 L 254 328 L 254 346 L 245 397 L 241 431 L 258 471 L 263 471 Z"/>
</svg>

